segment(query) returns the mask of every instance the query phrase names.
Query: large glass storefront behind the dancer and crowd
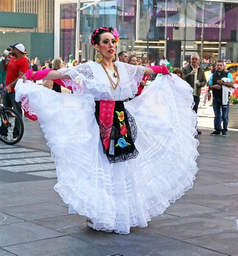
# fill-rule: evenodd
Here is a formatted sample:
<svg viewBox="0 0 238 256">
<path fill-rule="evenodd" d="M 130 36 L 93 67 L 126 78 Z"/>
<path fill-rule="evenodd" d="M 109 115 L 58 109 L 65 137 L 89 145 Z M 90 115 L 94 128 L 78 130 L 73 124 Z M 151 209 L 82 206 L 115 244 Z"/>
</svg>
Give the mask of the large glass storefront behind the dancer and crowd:
<svg viewBox="0 0 238 256">
<path fill-rule="evenodd" d="M 81 3 L 81 7 L 90 3 Z M 60 55 L 63 57 L 75 53 L 76 8 L 76 3 L 60 4 Z M 96 27 L 112 26 L 120 32 L 118 52 L 136 54 L 145 62 L 166 56 L 173 66 L 180 66 L 194 52 L 202 58 L 237 61 L 237 13 L 238 3 L 227 2 L 97 2 L 81 11 L 79 55 L 93 59 L 91 33 Z"/>
</svg>

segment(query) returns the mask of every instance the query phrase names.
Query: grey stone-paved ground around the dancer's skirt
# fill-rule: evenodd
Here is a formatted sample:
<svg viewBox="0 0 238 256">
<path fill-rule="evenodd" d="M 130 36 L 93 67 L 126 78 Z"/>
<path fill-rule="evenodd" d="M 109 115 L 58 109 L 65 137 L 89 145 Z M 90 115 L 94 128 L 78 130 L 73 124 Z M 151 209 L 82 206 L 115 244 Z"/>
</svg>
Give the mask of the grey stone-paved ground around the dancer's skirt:
<svg viewBox="0 0 238 256">
<path fill-rule="evenodd" d="M 237 132 L 202 128 L 193 188 L 148 227 L 118 235 L 68 214 L 39 124 L 24 123 L 20 143 L 0 142 L 0 255 L 237 255 Z"/>
</svg>

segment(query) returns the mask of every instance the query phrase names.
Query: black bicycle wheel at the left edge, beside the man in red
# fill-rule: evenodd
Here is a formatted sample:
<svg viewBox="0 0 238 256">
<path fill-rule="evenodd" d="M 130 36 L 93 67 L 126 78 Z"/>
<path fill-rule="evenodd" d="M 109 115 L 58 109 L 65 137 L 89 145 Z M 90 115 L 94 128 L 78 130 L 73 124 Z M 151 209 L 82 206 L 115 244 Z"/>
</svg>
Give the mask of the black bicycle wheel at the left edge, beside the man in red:
<svg viewBox="0 0 238 256">
<path fill-rule="evenodd" d="M 15 110 L 5 107 L 2 107 L 2 111 L 0 111 L 0 118 L 0 140 L 8 145 L 18 143 L 24 133 L 22 118 Z"/>
</svg>

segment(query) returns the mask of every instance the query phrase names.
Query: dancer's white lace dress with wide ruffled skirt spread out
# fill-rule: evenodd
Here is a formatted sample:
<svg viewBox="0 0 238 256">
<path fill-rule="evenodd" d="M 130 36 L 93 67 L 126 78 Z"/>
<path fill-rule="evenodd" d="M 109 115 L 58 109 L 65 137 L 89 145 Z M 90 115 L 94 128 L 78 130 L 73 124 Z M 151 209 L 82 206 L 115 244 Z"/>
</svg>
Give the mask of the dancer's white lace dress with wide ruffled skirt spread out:
<svg viewBox="0 0 238 256">
<path fill-rule="evenodd" d="M 74 83 L 77 93 L 59 94 L 19 79 L 16 100 L 27 97 L 38 116 L 55 158 L 54 189 L 69 204 L 69 212 L 92 219 L 94 229 L 128 234 L 132 226 L 146 227 L 192 187 L 198 170 L 196 114 L 188 83 L 173 74 L 154 80 L 139 97 L 124 103 L 135 119 L 131 125 L 138 156 L 109 163 L 94 101 L 133 98 L 145 71 L 115 64 L 121 78 L 116 90 L 102 66 L 88 62 L 58 70 L 74 82 L 83 81 L 81 86 Z"/>
</svg>

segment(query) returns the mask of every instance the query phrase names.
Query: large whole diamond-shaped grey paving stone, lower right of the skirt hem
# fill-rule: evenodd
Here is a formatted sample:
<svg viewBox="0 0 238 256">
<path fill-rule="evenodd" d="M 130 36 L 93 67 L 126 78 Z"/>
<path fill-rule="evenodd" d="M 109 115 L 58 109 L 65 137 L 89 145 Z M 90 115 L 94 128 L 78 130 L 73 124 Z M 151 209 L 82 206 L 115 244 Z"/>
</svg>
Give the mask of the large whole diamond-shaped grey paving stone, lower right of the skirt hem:
<svg viewBox="0 0 238 256">
<path fill-rule="evenodd" d="M 236 221 L 208 215 L 149 222 L 146 230 L 183 240 L 235 228 Z"/>
</svg>

